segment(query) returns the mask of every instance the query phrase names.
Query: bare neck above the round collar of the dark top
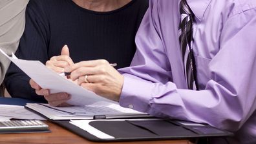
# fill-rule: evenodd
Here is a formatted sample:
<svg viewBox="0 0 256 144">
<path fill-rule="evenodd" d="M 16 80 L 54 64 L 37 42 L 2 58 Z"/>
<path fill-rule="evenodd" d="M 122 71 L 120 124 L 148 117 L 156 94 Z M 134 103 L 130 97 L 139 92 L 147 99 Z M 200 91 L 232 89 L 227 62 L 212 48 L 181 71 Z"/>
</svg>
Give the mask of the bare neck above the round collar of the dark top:
<svg viewBox="0 0 256 144">
<path fill-rule="evenodd" d="M 131 0 L 72 0 L 76 5 L 96 12 L 109 12 L 121 8 Z"/>
</svg>

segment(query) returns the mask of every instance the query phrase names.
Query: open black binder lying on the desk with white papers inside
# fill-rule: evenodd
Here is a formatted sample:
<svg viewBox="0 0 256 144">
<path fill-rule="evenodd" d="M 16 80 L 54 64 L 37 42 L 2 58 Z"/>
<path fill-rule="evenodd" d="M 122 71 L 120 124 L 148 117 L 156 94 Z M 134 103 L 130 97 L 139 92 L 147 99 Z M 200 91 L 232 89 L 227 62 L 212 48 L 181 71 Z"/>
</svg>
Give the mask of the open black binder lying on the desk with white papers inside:
<svg viewBox="0 0 256 144">
<path fill-rule="evenodd" d="M 27 103 L 25 107 L 91 141 L 189 139 L 233 135 L 209 125 L 158 119 L 107 102 L 84 107 L 51 107 L 48 104 Z M 108 108 L 112 109 L 107 110 L 109 114 L 105 111 Z M 90 114 L 95 110 L 100 111 Z"/>
</svg>

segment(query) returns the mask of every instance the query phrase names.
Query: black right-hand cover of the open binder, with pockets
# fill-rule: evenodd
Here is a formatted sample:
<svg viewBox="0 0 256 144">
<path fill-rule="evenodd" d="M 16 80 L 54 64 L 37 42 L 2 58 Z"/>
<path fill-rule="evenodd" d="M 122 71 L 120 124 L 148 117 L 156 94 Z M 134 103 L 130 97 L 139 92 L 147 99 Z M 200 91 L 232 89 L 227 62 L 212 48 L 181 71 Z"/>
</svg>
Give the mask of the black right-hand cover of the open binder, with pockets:
<svg viewBox="0 0 256 144">
<path fill-rule="evenodd" d="M 93 120 L 89 125 L 114 137 L 101 139 L 72 125 L 69 121 L 54 121 L 54 123 L 91 141 L 142 141 L 233 136 L 231 132 L 209 125 L 193 125 L 193 123 L 187 125 L 171 119 Z"/>
</svg>

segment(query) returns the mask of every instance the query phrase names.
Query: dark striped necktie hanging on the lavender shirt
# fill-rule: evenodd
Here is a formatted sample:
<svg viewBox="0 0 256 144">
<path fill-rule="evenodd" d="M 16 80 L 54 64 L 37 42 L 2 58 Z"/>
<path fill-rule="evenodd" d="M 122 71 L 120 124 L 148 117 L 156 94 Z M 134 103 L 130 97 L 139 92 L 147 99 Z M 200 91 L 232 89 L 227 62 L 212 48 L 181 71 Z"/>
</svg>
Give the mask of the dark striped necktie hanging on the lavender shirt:
<svg viewBox="0 0 256 144">
<path fill-rule="evenodd" d="M 189 89 L 197 90 L 195 57 L 193 55 L 193 12 L 186 0 L 180 2 L 179 40 L 184 62 L 184 74 Z"/>
</svg>

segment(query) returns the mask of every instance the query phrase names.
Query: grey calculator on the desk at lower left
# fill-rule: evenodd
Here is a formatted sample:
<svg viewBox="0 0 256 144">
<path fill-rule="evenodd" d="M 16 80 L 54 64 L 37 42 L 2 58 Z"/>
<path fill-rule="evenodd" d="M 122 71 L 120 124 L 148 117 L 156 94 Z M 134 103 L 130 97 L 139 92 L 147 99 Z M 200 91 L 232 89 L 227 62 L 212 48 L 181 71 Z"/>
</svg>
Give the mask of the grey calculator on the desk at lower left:
<svg viewBox="0 0 256 144">
<path fill-rule="evenodd" d="M 12 120 L 0 121 L 0 134 L 49 132 L 48 125 L 40 120 Z"/>
</svg>

